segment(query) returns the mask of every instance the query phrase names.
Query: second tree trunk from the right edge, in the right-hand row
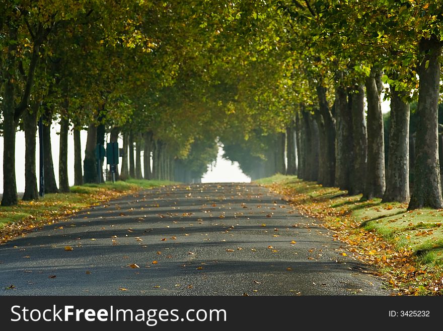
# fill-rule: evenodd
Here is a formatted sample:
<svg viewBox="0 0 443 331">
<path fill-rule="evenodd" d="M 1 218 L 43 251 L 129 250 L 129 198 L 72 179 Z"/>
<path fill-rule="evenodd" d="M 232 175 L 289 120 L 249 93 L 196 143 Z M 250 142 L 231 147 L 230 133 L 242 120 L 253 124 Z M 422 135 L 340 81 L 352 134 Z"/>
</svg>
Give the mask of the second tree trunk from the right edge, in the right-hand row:
<svg viewBox="0 0 443 331">
<path fill-rule="evenodd" d="M 409 104 L 401 93 L 391 86 L 391 127 L 386 171 L 386 190 L 383 202 L 409 200 Z"/>
</svg>

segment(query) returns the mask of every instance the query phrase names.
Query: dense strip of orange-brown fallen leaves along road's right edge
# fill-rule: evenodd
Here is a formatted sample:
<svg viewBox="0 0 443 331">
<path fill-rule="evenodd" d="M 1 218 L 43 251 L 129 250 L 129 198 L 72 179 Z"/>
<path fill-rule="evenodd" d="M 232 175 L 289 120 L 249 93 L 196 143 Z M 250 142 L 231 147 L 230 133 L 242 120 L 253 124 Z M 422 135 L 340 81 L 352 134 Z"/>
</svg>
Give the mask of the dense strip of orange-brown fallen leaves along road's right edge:
<svg viewBox="0 0 443 331">
<path fill-rule="evenodd" d="M 269 187 L 302 215 L 314 217 L 324 227 L 333 230 L 334 238 L 347 244 L 347 255 L 374 266 L 374 274 L 389 284 L 393 295 L 443 294 L 443 274 L 440 269 L 420 263 L 411 250 L 396 246 L 395 238 L 390 242 L 376 231 L 360 227 L 360 222 L 352 217 L 350 209 L 331 207 L 331 200 L 298 192 L 296 188 L 281 183 L 273 183 Z M 321 191 L 318 193 L 321 196 Z M 348 201 L 357 203 L 358 197 L 349 196 Z"/>
</svg>

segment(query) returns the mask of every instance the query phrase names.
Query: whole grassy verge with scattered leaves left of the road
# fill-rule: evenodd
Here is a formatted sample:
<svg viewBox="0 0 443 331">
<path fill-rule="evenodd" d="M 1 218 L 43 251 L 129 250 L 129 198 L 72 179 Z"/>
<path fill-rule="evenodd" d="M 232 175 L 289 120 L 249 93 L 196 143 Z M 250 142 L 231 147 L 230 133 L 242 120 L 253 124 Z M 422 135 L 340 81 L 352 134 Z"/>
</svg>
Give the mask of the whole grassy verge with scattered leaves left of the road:
<svg viewBox="0 0 443 331">
<path fill-rule="evenodd" d="M 46 224 L 56 223 L 82 209 L 141 189 L 170 184 L 160 180 L 133 180 L 72 186 L 70 193 L 46 194 L 37 201 L 20 201 L 0 209 L 0 244 Z"/>
</svg>

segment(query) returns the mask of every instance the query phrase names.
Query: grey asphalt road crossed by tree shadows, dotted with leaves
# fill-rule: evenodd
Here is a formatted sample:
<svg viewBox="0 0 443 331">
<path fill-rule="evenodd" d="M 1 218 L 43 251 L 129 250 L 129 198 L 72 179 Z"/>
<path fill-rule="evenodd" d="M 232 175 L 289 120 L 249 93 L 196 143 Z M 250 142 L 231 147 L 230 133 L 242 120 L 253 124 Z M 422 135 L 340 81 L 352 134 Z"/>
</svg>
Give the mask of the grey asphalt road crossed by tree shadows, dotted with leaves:
<svg viewBox="0 0 443 331">
<path fill-rule="evenodd" d="M 0 293 L 389 294 L 343 247 L 264 187 L 170 186 L 0 246 Z"/>
</svg>

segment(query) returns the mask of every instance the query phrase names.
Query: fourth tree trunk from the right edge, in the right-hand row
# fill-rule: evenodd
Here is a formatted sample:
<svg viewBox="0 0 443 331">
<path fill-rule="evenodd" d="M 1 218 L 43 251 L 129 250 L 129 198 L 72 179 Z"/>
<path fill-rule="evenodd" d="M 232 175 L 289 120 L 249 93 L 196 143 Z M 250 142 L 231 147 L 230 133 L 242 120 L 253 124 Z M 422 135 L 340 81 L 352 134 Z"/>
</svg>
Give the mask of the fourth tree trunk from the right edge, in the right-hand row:
<svg viewBox="0 0 443 331">
<path fill-rule="evenodd" d="M 366 119 L 364 118 L 364 90 L 362 85 L 358 85 L 351 93 L 352 110 L 352 137 L 354 165 L 351 175 L 351 185 L 349 194 L 363 192 L 364 178 L 366 176 L 366 156 L 367 156 L 367 132 Z"/>
</svg>

